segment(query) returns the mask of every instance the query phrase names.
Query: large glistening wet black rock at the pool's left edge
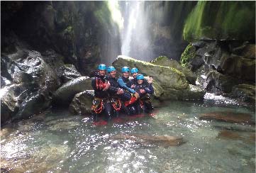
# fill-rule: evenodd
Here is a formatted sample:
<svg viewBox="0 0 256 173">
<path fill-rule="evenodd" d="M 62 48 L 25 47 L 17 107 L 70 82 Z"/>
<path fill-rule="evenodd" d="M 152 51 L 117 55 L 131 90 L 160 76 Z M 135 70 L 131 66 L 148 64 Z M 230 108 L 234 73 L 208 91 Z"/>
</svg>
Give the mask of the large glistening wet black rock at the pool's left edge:
<svg viewBox="0 0 256 173">
<path fill-rule="evenodd" d="M 55 71 L 36 51 L 28 51 L 26 57 L 11 60 L 9 69 L 11 86 L 1 96 L 1 122 L 13 118 L 28 118 L 50 105 L 52 92 L 60 85 Z M 9 57 L 11 57 L 9 55 Z"/>
</svg>

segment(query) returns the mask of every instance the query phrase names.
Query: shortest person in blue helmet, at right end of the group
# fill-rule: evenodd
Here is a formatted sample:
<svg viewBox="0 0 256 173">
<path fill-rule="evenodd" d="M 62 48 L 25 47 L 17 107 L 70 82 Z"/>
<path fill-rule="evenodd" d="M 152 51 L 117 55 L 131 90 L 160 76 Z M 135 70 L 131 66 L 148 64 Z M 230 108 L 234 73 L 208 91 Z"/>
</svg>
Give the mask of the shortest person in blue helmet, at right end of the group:
<svg viewBox="0 0 256 173">
<path fill-rule="evenodd" d="M 139 104 L 137 104 L 137 111 L 143 111 L 145 113 L 149 113 L 153 110 L 153 106 L 150 101 L 151 94 L 154 94 L 154 89 L 152 86 L 152 81 L 145 83 L 145 79 L 143 74 L 138 74 L 137 82 L 135 84 L 135 91 L 140 95 Z"/>
</svg>

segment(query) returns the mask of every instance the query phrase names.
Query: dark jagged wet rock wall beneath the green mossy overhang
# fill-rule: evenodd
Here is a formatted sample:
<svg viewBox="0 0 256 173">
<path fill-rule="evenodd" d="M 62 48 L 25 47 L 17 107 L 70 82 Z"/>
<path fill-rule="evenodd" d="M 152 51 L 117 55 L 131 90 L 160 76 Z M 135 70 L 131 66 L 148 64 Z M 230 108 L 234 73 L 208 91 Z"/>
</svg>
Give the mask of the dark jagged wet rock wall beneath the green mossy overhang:
<svg viewBox="0 0 256 173">
<path fill-rule="evenodd" d="M 199 84 L 208 92 L 239 98 L 241 94 L 235 94 L 233 87 L 255 84 L 255 45 L 249 42 L 201 40 L 190 43 L 182 54 L 181 63 L 198 75 Z M 246 95 L 249 92 L 245 91 Z M 253 103 L 252 99 L 247 102 Z"/>
</svg>

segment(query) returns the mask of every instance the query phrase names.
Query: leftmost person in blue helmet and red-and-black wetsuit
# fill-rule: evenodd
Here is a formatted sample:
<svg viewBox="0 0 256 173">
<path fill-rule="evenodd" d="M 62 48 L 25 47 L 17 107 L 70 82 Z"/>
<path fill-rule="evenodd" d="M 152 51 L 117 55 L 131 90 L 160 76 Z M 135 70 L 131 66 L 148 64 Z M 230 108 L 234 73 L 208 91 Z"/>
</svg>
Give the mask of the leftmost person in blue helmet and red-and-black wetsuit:
<svg viewBox="0 0 256 173">
<path fill-rule="evenodd" d="M 98 121 L 98 115 L 104 112 L 106 120 L 111 120 L 111 100 L 108 94 L 108 89 L 111 84 L 106 77 L 106 65 L 101 64 L 98 66 L 98 73 L 91 79 L 91 86 L 94 89 L 94 101 L 91 109 L 93 111 L 94 121 Z"/>
</svg>

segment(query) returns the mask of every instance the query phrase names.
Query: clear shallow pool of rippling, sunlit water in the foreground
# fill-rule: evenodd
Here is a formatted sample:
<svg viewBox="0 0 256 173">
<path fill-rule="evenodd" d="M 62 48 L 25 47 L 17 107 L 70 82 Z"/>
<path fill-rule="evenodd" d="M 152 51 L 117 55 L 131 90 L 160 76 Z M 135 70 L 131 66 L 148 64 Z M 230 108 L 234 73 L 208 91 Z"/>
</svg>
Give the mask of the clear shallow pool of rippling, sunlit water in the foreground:
<svg viewBox="0 0 256 173">
<path fill-rule="evenodd" d="M 10 172 L 255 172 L 255 125 L 199 120 L 215 111 L 249 113 L 255 121 L 252 107 L 191 101 L 172 101 L 154 116 L 107 125 L 66 110 L 45 111 L 1 127 L 1 167 Z M 235 135 L 222 136 L 223 131 Z M 178 136 L 186 143 L 115 138 L 124 134 Z"/>
</svg>

